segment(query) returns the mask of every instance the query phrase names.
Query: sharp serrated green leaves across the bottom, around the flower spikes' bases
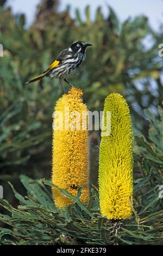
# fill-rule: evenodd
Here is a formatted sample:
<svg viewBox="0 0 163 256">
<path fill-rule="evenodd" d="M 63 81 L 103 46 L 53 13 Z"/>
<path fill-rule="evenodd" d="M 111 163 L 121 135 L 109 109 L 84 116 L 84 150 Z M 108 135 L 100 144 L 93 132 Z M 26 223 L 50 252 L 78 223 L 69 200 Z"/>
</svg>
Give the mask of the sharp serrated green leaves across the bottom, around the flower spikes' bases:
<svg viewBox="0 0 163 256">
<path fill-rule="evenodd" d="M 156 211 L 158 197 L 153 188 L 148 192 L 151 200 L 138 213 L 133 209 L 135 215 L 130 220 L 112 222 L 99 214 L 96 187 L 91 189 L 92 196 L 87 207 L 79 200 L 82 187 L 77 196 L 60 189 L 74 203 L 59 210 L 53 203 L 51 193 L 43 185 L 52 187 L 51 182 L 43 179 L 42 183 L 24 175 L 20 178 L 28 196 L 21 196 L 12 187 L 20 202 L 18 209 L 13 208 L 7 200 L 0 200 L 1 205 L 10 212 L 10 215 L 0 214 L 0 220 L 8 225 L 8 228 L 0 229 L 1 244 L 137 245 L 160 243 L 163 239 L 163 210 Z M 145 180 L 137 185 L 135 194 L 145 185 Z"/>
</svg>

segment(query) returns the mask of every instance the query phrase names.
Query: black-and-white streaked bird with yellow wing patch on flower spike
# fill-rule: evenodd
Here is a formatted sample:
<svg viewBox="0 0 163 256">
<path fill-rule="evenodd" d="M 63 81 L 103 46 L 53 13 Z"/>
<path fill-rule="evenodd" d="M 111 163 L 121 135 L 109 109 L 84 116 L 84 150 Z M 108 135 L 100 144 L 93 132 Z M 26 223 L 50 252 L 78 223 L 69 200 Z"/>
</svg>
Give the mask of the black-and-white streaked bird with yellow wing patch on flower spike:
<svg viewBox="0 0 163 256">
<path fill-rule="evenodd" d="M 26 82 L 26 84 L 41 80 L 44 77 L 55 77 L 59 79 L 62 90 L 65 93 L 63 81 L 72 87 L 72 84 L 68 82 L 67 78 L 72 76 L 82 65 L 82 62 L 86 57 L 85 51 L 87 46 L 92 46 L 92 44 L 88 44 L 84 41 L 73 42 L 69 48 L 66 48 L 58 54 L 57 58 L 48 66 L 46 71 L 42 72 L 41 75 L 32 78 Z"/>
</svg>

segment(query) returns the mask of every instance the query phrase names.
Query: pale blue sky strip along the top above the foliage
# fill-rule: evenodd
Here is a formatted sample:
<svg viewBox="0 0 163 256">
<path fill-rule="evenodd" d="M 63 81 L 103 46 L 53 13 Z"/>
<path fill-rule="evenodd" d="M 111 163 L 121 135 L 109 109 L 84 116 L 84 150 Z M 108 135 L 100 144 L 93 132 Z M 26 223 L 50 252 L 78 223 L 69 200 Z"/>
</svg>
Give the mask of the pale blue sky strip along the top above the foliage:
<svg viewBox="0 0 163 256">
<path fill-rule="evenodd" d="M 28 25 L 34 19 L 35 8 L 39 2 L 40 0 L 9 0 L 14 13 L 26 13 Z M 143 14 L 149 17 L 149 23 L 154 29 L 159 28 L 161 21 L 163 23 L 163 0 L 60 0 L 59 10 L 64 10 L 68 4 L 71 5 L 72 17 L 74 17 L 75 8 L 79 8 L 84 17 L 86 5 L 91 7 L 92 19 L 99 5 L 102 7 L 103 14 L 107 16 L 107 5 L 110 5 L 122 22 L 129 16 Z"/>
</svg>

